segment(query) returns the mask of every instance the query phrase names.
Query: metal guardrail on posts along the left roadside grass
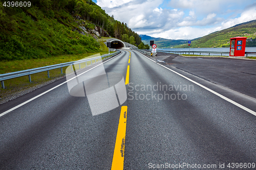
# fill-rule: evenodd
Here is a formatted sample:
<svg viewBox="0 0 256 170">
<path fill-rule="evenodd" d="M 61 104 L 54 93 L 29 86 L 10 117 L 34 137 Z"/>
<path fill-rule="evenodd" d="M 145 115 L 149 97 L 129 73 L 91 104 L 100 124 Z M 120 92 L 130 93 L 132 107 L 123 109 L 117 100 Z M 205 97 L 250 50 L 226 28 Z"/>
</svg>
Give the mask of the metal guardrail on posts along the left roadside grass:
<svg viewBox="0 0 256 170">
<path fill-rule="evenodd" d="M 93 60 L 95 60 L 95 63 L 96 63 L 96 60 L 100 61 L 100 59 L 101 59 L 101 61 L 102 61 L 102 60 L 111 58 L 114 55 L 117 55 L 119 53 L 120 53 L 120 51 L 112 53 L 112 54 L 105 54 L 105 55 L 102 55 L 102 56 L 89 58 L 89 59 L 83 59 L 83 60 L 72 61 L 72 62 L 67 62 L 67 63 L 49 65 L 49 66 L 45 66 L 45 67 L 32 68 L 32 69 L 16 71 L 16 72 L 9 72 L 7 74 L 0 74 L 1 85 L 2 85 L 2 88 L 5 88 L 4 80 L 18 78 L 18 77 L 22 77 L 22 76 L 29 76 L 29 82 L 31 82 L 31 76 L 30 75 L 38 73 L 38 72 L 43 72 L 43 71 L 47 71 L 48 78 L 50 78 L 49 70 L 60 68 L 61 74 L 63 74 L 62 67 L 66 67 L 66 66 L 69 66 L 69 65 L 72 65 L 72 64 L 76 63 L 76 64 L 79 64 L 79 69 L 80 69 L 81 68 L 81 65 L 80 65 L 81 63 L 86 62 L 86 67 L 87 67 L 87 62 L 88 61 L 91 61 L 90 65 L 92 65 Z"/>
</svg>

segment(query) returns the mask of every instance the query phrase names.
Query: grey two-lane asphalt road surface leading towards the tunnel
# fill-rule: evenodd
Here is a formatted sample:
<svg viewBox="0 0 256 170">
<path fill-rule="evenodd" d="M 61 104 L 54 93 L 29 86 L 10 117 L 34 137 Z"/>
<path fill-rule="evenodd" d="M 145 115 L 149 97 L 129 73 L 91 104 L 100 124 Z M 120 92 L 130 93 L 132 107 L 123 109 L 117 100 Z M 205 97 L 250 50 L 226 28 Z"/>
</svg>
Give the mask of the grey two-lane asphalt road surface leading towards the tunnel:
<svg viewBox="0 0 256 170">
<path fill-rule="evenodd" d="M 130 65 L 124 169 L 245 169 L 256 162 L 254 98 L 130 52 L 103 63 L 124 79 Z M 65 81 L 0 105 L 3 113 L 63 83 L 0 117 L 0 169 L 111 169 L 121 106 L 92 116 L 88 98 L 70 95 Z"/>
</svg>

